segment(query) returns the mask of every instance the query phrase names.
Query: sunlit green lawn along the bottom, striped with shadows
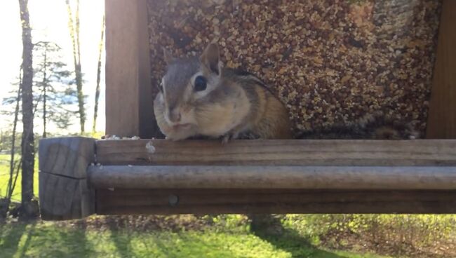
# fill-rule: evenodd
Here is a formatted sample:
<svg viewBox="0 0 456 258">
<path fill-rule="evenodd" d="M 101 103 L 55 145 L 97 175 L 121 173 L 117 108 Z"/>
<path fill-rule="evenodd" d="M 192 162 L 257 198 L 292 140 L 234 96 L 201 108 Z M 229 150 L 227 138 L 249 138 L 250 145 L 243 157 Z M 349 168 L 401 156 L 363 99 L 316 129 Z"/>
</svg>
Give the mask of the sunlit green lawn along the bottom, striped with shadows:
<svg viewBox="0 0 456 258">
<path fill-rule="evenodd" d="M 298 241 L 299 240 L 299 241 Z M 369 257 L 321 250 L 287 236 L 275 240 L 248 231 L 133 231 L 83 229 L 55 223 L 0 225 L 1 257 Z"/>
</svg>

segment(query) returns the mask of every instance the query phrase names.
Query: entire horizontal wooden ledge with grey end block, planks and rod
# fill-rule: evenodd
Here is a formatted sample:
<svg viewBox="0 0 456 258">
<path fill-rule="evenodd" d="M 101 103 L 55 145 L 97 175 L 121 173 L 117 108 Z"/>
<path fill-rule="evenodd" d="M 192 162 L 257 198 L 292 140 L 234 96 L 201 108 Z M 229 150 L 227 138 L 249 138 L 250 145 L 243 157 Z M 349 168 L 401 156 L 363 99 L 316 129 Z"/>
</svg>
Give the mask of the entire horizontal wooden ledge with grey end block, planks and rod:
<svg viewBox="0 0 456 258">
<path fill-rule="evenodd" d="M 456 140 L 40 142 L 43 219 L 456 213 Z"/>
</svg>

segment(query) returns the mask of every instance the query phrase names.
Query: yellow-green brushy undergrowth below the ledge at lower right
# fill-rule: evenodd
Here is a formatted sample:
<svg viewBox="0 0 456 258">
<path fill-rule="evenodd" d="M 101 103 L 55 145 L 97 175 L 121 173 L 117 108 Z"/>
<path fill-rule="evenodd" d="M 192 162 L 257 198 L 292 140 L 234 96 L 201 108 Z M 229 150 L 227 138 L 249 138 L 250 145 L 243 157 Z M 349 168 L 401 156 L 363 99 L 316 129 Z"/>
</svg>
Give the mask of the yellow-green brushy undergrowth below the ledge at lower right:
<svg viewBox="0 0 456 258">
<path fill-rule="evenodd" d="M 349 246 L 344 243 L 349 236 L 389 245 L 397 253 L 456 240 L 455 215 L 287 215 L 283 225 L 307 236 L 314 245 L 337 249 Z"/>
</svg>

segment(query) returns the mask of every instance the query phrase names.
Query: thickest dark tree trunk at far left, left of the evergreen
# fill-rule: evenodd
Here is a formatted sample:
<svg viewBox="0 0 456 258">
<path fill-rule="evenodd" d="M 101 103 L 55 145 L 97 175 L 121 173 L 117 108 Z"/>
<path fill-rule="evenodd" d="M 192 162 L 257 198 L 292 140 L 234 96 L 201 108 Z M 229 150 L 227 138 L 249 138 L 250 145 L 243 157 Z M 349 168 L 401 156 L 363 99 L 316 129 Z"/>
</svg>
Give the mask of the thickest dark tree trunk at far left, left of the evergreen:
<svg viewBox="0 0 456 258">
<path fill-rule="evenodd" d="M 22 22 L 22 203 L 21 217 L 34 217 L 33 201 L 34 135 L 33 135 L 33 67 L 32 28 L 29 21 L 28 0 L 19 0 Z"/>
</svg>

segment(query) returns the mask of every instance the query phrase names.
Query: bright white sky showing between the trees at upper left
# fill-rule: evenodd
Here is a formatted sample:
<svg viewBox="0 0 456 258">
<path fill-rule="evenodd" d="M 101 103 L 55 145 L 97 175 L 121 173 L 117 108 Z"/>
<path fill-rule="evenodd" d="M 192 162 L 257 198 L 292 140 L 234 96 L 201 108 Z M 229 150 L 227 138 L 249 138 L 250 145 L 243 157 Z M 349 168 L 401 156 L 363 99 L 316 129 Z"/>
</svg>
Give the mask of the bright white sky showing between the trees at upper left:
<svg viewBox="0 0 456 258">
<path fill-rule="evenodd" d="M 73 2 L 74 0 L 70 1 Z M 86 100 L 86 131 L 92 128 L 93 106 L 98 64 L 98 44 L 102 27 L 102 15 L 105 11 L 104 0 L 80 0 L 80 37 L 81 68 L 84 74 L 83 93 Z M 73 8 L 75 10 L 75 8 Z M 74 69 L 72 42 L 68 30 L 68 14 L 65 0 L 29 0 L 30 23 L 32 25 L 32 42 L 52 41 L 62 48 L 63 61 L 69 69 Z M 0 0 L 0 99 L 17 86 L 11 83 L 18 81 L 19 67 L 22 62 L 22 29 L 20 27 L 18 0 Z M 101 94 L 98 111 L 97 130 L 105 130 L 105 57 L 101 74 Z M 0 107 L 3 109 L 4 107 Z M 36 131 L 40 132 L 38 119 L 35 120 Z M 76 122 L 78 122 L 77 120 Z M 0 130 L 8 129 L 11 118 L 0 115 Z M 55 128 L 50 128 L 55 130 Z M 68 128 L 69 133 L 79 131 L 79 123 Z"/>
</svg>

